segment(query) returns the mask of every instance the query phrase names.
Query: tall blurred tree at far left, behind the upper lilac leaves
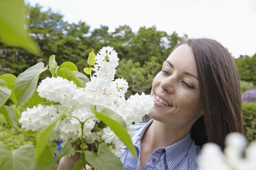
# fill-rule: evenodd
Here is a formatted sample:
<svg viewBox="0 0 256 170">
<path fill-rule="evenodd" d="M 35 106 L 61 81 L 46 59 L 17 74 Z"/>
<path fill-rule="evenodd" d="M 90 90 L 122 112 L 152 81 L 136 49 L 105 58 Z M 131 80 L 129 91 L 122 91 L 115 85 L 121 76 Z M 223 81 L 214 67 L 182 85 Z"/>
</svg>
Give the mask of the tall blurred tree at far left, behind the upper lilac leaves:
<svg viewBox="0 0 256 170">
<path fill-rule="evenodd" d="M 71 60 L 78 64 L 82 71 L 86 60 L 93 47 L 92 40 L 87 38 L 89 26 L 84 22 L 67 23 L 63 15 L 42 11 L 42 7 L 28 5 L 28 27 L 30 36 L 36 40 L 42 53 L 35 56 L 21 48 L 8 47 L 0 43 L 0 71 L 2 73 L 19 73 L 39 61 L 47 63 L 49 56 L 56 54 L 59 63 Z"/>
</svg>

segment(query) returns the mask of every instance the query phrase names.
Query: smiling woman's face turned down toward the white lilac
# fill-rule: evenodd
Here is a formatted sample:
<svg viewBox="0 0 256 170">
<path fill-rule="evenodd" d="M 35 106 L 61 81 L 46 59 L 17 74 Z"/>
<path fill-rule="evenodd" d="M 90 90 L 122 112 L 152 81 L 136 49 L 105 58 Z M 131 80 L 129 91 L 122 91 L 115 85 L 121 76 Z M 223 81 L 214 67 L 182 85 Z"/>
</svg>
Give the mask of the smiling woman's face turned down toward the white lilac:
<svg viewBox="0 0 256 170">
<path fill-rule="evenodd" d="M 189 45 L 180 45 L 162 64 L 152 83 L 153 119 L 175 127 L 190 127 L 202 115 L 195 57 Z"/>
</svg>

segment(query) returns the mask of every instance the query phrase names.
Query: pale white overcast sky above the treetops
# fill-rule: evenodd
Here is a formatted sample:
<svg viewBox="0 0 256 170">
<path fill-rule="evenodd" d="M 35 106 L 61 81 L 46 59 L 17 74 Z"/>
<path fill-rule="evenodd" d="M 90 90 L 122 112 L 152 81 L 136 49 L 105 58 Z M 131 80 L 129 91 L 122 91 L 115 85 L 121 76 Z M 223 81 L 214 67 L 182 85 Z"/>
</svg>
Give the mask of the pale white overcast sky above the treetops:
<svg viewBox="0 0 256 170">
<path fill-rule="evenodd" d="M 235 58 L 256 53 L 256 0 L 25 0 L 63 14 L 70 23 L 84 21 L 112 32 L 142 26 L 189 38 L 213 38 Z"/>
</svg>

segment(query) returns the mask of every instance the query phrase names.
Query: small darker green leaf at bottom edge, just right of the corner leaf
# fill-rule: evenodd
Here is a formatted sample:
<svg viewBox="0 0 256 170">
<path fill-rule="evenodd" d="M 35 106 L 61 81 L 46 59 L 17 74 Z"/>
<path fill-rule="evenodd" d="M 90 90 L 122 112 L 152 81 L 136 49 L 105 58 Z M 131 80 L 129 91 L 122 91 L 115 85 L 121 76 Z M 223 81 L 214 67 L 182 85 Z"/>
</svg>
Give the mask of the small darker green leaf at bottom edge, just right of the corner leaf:
<svg viewBox="0 0 256 170">
<path fill-rule="evenodd" d="M 48 162 L 51 162 L 53 159 L 53 154 L 52 151 L 50 149 L 50 147 L 48 145 L 45 146 L 45 149 L 43 150 L 43 153 L 41 154 L 40 158 L 39 158 L 39 162 L 37 167 L 39 169 L 43 168 L 45 165 L 47 165 Z M 48 168 L 45 170 L 52 170 L 52 168 Z"/>
</svg>

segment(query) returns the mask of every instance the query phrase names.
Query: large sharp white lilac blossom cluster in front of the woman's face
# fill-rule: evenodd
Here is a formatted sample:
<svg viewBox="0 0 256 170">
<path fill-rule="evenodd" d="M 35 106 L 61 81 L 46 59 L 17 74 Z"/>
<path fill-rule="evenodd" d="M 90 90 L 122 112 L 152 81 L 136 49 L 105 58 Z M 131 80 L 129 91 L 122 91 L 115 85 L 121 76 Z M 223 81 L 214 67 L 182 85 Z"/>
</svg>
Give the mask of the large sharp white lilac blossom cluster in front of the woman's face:
<svg viewBox="0 0 256 170">
<path fill-rule="evenodd" d="M 111 47 L 103 47 L 96 56 L 94 74 L 91 81 L 87 82 L 85 88 L 77 87 L 74 82 L 62 77 L 47 77 L 42 80 L 37 88 L 39 96 L 48 101 L 53 101 L 50 106 L 39 104 L 33 108 L 28 108 L 21 114 L 20 123 L 22 127 L 32 131 L 45 129 L 50 125 L 65 108 L 65 114 L 72 117 L 65 117 L 58 121 L 52 131 L 52 140 L 61 139 L 63 144 L 67 141 L 74 142 L 81 138 L 81 121 L 85 121 L 84 138 L 85 145 L 94 142 L 105 142 L 114 154 L 121 153 L 120 141 L 116 134 L 109 127 L 94 132 L 94 126 L 100 123 L 94 117 L 90 106 L 95 106 L 96 110 L 110 108 L 120 114 L 127 123 L 127 131 L 131 135 L 132 123 L 142 121 L 142 117 L 148 114 L 153 107 L 153 99 L 149 95 L 134 95 L 125 99 L 128 84 L 126 80 L 120 78 L 114 80 L 116 67 L 118 66 L 116 51 Z"/>
</svg>

